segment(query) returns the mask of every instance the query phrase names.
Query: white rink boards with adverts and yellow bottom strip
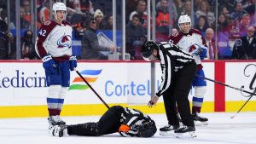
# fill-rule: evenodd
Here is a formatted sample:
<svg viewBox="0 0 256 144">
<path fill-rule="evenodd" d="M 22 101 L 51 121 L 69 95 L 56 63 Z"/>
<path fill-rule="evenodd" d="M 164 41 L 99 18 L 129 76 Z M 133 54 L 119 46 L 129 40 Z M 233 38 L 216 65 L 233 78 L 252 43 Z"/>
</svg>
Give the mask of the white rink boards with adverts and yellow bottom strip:
<svg viewBox="0 0 256 144">
<path fill-rule="evenodd" d="M 155 87 L 160 85 L 160 65 L 156 63 Z M 207 78 L 253 92 L 256 61 L 206 61 Z M 44 69 L 40 61 L 0 61 L 0 118 L 47 116 Z M 150 99 L 150 63 L 144 61 L 79 61 L 79 72 L 110 106 L 135 107 L 143 112 L 164 113 L 162 98 L 148 109 Z M 106 111 L 96 95 L 71 72 L 70 89 L 61 115 L 98 115 Z M 202 112 L 236 112 L 248 95 L 236 89 L 207 81 Z M 156 89 L 155 89 L 156 90 Z M 189 93 L 189 100 L 194 91 Z M 255 97 L 242 111 L 256 111 Z"/>
</svg>

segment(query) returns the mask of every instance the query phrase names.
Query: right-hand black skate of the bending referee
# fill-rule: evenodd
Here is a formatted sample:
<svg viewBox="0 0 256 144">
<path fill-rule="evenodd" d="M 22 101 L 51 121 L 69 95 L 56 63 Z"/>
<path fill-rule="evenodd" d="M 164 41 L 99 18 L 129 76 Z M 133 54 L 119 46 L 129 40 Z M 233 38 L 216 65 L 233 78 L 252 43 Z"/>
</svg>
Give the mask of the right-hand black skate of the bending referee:
<svg viewBox="0 0 256 144">
<path fill-rule="evenodd" d="M 177 138 L 193 138 L 193 137 L 196 137 L 194 126 L 183 125 L 179 129 L 174 130 L 174 134 Z"/>
</svg>

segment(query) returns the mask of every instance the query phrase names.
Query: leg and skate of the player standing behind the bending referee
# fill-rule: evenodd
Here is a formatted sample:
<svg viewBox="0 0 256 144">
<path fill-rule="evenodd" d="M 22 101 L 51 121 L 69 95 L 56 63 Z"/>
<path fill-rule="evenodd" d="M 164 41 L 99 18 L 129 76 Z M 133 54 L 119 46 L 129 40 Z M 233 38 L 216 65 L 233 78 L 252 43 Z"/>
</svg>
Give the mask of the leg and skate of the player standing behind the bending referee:
<svg viewBox="0 0 256 144">
<path fill-rule="evenodd" d="M 199 70 L 197 75 L 205 77 L 203 70 Z M 207 92 L 207 82 L 203 78 L 195 77 L 192 82 L 193 87 L 195 88 L 195 95 L 192 99 L 192 115 L 196 124 L 200 122 L 201 124 L 207 124 L 208 119 L 201 117 L 199 113 L 201 112 L 202 103 L 204 101 L 204 95 Z"/>
</svg>

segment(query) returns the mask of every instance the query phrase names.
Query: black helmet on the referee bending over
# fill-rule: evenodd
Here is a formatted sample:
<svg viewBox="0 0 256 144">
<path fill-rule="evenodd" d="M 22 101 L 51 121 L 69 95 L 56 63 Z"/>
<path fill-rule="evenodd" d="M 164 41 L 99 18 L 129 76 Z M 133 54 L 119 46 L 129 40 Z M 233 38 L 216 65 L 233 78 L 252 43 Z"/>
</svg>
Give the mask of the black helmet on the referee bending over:
<svg viewBox="0 0 256 144">
<path fill-rule="evenodd" d="M 153 54 L 154 49 L 158 49 L 158 46 L 152 41 L 146 41 L 141 49 L 141 55 L 144 60 L 149 60 L 149 56 Z"/>
</svg>

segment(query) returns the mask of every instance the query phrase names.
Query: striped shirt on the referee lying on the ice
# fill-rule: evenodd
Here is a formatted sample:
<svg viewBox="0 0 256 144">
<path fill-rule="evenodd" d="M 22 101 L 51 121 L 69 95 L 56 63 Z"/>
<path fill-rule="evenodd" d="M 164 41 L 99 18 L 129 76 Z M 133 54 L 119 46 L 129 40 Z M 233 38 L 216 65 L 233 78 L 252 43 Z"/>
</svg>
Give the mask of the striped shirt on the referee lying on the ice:
<svg viewBox="0 0 256 144">
<path fill-rule="evenodd" d="M 143 112 L 137 110 L 125 107 L 124 115 L 122 115 L 121 119 L 122 124 L 130 126 L 131 130 L 129 130 L 127 133 L 125 132 L 119 132 L 122 136 L 138 136 L 138 127 L 144 123 L 152 122 L 154 123 L 154 120 L 152 120 L 148 115 L 143 114 Z"/>
</svg>

